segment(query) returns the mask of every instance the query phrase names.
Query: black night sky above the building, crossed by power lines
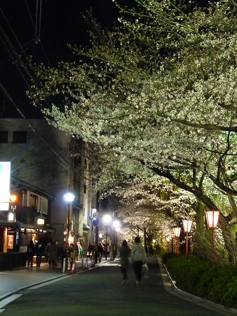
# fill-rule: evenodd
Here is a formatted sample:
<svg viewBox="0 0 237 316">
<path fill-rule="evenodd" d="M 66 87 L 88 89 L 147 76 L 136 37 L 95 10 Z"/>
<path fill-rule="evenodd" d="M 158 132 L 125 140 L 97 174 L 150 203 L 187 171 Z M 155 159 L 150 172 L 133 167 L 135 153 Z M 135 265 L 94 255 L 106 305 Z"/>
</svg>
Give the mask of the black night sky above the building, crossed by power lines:
<svg viewBox="0 0 237 316">
<path fill-rule="evenodd" d="M 24 67 L 19 62 L 18 65 L 15 64 L 15 53 L 21 55 L 23 61 L 26 55 L 32 55 L 37 63 L 43 62 L 50 66 L 61 60 L 74 60 L 75 56 L 67 43 L 88 43 L 89 26 L 82 14 L 89 8 L 103 27 L 112 27 L 118 15 L 112 0 L 1 1 L 0 82 L 28 118 L 39 117 L 40 111 L 33 108 L 26 97 L 31 81 Z M 40 41 L 36 43 L 37 38 Z M 19 117 L 0 88 L 0 113 L 2 112 L 3 117 Z"/>
</svg>

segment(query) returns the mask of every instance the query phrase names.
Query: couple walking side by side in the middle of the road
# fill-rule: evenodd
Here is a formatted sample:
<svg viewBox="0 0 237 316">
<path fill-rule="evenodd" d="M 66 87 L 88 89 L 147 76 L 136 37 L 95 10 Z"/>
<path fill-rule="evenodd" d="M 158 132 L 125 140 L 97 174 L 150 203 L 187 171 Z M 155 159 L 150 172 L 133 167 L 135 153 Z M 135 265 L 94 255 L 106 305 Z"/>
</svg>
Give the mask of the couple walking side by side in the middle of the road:
<svg viewBox="0 0 237 316">
<path fill-rule="evenodd" d="M 146 251 L 143 245 L 140 243 L 140 237 L 135 237 L 134 244 L 131 249 L 131 260 L 133 262 L 133 268 L 136 276 L 136 284 L 139 285 L 142 279 L 142 266 L 147 261 Z M 121 269 L 123 274 L 122 283 L 128 283 L 127 277 L 127 267 L 128 267 L 128 257 L 130 254 L 130 249 L 128 247 L 127 241 L 123 240 L 120 248 L 120 258 L 121 258 Z"/>
</svg>

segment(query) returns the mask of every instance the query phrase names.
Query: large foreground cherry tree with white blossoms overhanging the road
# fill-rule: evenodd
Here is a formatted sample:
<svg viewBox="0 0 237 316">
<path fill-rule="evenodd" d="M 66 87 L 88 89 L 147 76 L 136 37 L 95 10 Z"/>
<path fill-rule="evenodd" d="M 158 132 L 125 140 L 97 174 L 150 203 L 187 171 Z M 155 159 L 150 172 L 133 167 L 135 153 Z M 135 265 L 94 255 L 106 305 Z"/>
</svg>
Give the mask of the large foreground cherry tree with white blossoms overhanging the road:
<svg viewBox="0 0 237 316">
<path fill-rule="evenodd" d="M 142 166 L 207 208 L 221 209 L 231 254 L 237 218 L 237 6 L 233 0 L 207 7 L 176 2 L 134 0 L 132 8 L 117 3 L 121 16 L 114 31 L 94 23 L 91 46 L 72 47 L 78 63 L 35 67 L 41 85 L 29 95 L 35 103 L 50 96 L 54 104 L 43 113 L 51 124 L 109 153 L 127 170 L 140 172 Z M 218 194 L 225 196 L 225 210 Z M 196 212 L 201 229 L 203 207 Z"/>
</svg>

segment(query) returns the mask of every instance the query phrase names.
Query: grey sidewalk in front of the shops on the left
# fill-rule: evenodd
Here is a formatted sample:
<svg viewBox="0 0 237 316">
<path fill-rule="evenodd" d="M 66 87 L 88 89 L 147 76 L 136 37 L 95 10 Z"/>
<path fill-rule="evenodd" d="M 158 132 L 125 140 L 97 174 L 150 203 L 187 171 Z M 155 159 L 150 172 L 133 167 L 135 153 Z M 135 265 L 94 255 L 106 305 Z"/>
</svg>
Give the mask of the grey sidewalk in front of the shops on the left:
<svg viewBox="0 0 237 316">
<path fill-rule="evenodd" d="M 83 259 L 83 267 L 85 265 L 85 258 Z M 102 263 L 110 261 L 110 258 L 106 261 L 102 258 Z M 91 261 L 88 259 L 88 268 L 91 268 Z M 97 266 L 97 265 L 96 265 Z M 81 259 L 76 262 L 76 273 L 82 271 Z M 85 270 L 86 271 L 86 270 Z M 40 284 L 55 278 L 70 275 L 70 272 L 63 273 L 61 265 L 54 269 L 49 269 L 48 263 L 41 263 L 40 269 L 36 269 L 36 264 L 33 265 L 33 270 L 27 268 L 17 270 L 0 271 L 0 301 L 9 295 L 15 293 L 19 289 L 27 288 L 32 285 Z"/>
</svg>

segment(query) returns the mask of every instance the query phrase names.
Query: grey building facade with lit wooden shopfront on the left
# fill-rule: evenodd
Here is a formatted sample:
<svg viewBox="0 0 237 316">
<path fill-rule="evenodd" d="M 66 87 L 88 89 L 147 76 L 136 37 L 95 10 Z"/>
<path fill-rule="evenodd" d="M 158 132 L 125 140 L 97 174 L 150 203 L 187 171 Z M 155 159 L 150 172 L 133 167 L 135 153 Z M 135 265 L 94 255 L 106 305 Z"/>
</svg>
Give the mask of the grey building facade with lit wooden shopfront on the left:
<svg viewBox="0 0 237 316">
<path fill-rule="evenodd" d="M 84 147 L 45 119 L 0 118 L 0 161 L 11 162 L 10 192 L 16 196 L 15 223 L 0 211 L 0 252 L 24 251 L 30 239 L 41 237 L 88 245 L 92 185 Z M 75 195 L 71 203 L 67 192 Z M 43 227 L 35 221 L 40 213 Z"/>
</svg>

